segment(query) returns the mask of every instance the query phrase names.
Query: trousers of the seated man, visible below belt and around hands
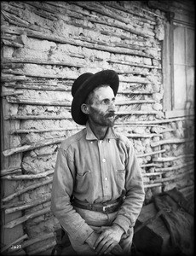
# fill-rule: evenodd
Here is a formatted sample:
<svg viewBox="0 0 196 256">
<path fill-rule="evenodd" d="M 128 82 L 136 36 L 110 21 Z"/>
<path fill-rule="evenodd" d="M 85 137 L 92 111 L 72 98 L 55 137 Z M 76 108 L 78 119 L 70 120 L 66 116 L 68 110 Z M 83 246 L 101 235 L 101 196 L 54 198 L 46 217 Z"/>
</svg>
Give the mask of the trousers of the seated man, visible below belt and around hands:
<svg viewBox="0 0 196 256">
<path fill-rule="evenodd" d="M 117 212 L 112 213 L 102 213 L 102 212 L 93 212 L 78 207 L 74 207 L 75 210 L 81 215 L 82 218 L 86 221 L 87 224 L 93 229 L 98 230 L 99 228 L 111 226 L 112 222 L 117 216 Z M 124 234 L 119 242 L 119 246 L 122 248 L 121 255 L 129 255 L 133 239 L 133 228 L 131 227 L 127 234 Z M 89 247 L 88 243 L 84 242 L 83 244 L 74 241 L 72 237 L 69 236 L 69 239 L 72 244 L 73 250 L 77 253 L 76 255 L 96 255 L 95 251 Z M 115 253 L 108 253 L 108 255 L 115 255 Z M 119 255 L 119 254 L 118 254 Z"/>
</svg>

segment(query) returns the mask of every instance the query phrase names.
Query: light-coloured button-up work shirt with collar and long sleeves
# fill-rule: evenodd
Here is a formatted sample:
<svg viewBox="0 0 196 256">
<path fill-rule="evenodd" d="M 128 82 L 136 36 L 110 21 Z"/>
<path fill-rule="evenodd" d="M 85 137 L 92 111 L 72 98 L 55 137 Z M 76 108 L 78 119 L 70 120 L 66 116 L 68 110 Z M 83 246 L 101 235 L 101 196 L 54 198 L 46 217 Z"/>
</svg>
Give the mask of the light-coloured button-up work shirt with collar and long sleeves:
<svg viewBox="0 0 196 256">
<path fill-rule="evenodd" d="M 70 198 L 100 203 L 125 195 L 113 223 L 126 233 L 135 225 L 144 201 L 141 169 L 130 140 L 108 128 L 98 140 L 89 124 L 67 138 L 57 154 L 51 211 L 72 239 L 83 243 L 94 231 L 72 207 Z"/>
</svg>

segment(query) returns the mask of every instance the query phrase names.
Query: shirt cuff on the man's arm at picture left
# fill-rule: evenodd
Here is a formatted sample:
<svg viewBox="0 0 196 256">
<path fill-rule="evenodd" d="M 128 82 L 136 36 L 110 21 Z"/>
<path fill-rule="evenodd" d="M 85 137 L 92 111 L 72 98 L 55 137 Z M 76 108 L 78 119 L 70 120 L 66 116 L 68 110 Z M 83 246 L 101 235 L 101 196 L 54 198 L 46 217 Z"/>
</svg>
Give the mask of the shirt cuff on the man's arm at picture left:
<svg viewBox="0 0 196 256">
<path fill-rule="evenodd" d="M 69 236 L 71 236 L 73 240 L 83 244 L 84 241 L 93 233 L 93 231 L 94 230 L 90 228 L 88 224 L 84 223 L 82 226 L 78 227 L 76 232 L 69 232 Z"/>
</svg>

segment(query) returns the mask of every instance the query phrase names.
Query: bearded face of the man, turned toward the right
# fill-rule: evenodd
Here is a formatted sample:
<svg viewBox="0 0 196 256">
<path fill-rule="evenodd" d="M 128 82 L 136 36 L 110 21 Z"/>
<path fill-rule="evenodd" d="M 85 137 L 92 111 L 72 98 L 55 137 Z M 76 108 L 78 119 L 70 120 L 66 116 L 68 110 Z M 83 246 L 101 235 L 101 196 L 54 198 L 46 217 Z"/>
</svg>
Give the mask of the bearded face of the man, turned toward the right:
<svg viewBox="0 0 196 256">
<path fill-rule="evenodd" d="M 95 89 L 89 105 L 89 121 L 95 125 L 112 126 L 115 121 L 115 96 L 110 86 Z"/>
</svg>

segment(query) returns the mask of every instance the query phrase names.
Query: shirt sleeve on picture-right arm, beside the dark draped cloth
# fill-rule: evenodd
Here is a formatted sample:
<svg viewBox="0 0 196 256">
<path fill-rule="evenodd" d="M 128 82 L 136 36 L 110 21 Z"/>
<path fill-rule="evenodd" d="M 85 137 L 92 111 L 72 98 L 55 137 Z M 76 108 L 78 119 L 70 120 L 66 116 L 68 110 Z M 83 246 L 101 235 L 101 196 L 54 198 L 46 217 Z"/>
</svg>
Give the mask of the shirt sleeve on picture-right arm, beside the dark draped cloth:
<svg viewBox="0 0 196 256">
<path fill-rule="evenodd" d="M 143 201 L 145 199 L 144 185 L 141 175 L 141 168 L 136 159 L 135 149 L 132 144 L 126 146 L 127 148 L 127 160 L 126 160 L 126 172 L 125 172 L 125 199 L 124 203 L 118 210 L 117 218 L 115 218 L 115 224 L 122 227 L 125 233 L 135 225 L 135 221 L 138 218 Z"/>
</svg>

